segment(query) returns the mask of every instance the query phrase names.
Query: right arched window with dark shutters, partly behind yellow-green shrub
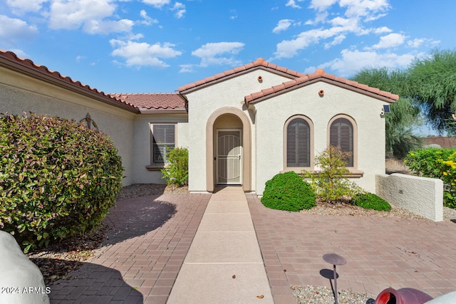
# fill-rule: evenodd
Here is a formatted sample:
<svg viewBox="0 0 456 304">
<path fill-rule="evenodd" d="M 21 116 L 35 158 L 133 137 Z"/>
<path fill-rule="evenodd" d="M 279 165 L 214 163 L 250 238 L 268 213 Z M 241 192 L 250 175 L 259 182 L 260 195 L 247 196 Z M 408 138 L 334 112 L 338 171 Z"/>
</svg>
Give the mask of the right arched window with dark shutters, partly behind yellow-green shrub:
<svg viewBox="0 0 456 304">
<path fill-rule="evenodd" d="M 331 122 L 329 130 L 329 145 L 338 147 L 342 152 L 347 152 L 350 156 L 347 159 L 347 167 L 354 167 L 353 150 L 353 124 L 346 117 L 338 117 Z"/>
</svg>

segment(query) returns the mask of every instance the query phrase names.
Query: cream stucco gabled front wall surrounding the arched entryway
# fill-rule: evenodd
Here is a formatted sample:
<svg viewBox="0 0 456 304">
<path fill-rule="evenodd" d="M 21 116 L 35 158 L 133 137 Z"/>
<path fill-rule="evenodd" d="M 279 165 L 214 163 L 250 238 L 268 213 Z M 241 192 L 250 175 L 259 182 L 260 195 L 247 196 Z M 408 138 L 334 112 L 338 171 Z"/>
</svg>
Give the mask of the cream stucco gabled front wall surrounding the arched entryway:
<svg viewBox="0 0 456 304">
<path fill-rule="evenodd" d="M 262 82 L 258 81 L 261 75 Z M 236 108 L 243 111 L 251 125 L 252 132 L 252 172 L 255 172 L 254 155 L 256 126 L 252 115 L 244 108 L 244 96 L 252 92 L 258 92 L 277 83 L 289 80 L 282 75 L 270 73 L 266 70 L 253 70 L 234 78 L 228 78 L 215 85 L 208 85 L 199 90 L 186 93 L 189 104 L 189 190 L 191 192 L 207 191 L 207 121 L 212 113 L 219 109 Z M 223 110 L 220 111 L 222 115 Z M 245 159 L 245 155 L 244 155 Z M 212 161 L 212 160 L 211 160 Z M 250 189 L 255 190 L 255 176 L 252 174 Z"/>
</svg>

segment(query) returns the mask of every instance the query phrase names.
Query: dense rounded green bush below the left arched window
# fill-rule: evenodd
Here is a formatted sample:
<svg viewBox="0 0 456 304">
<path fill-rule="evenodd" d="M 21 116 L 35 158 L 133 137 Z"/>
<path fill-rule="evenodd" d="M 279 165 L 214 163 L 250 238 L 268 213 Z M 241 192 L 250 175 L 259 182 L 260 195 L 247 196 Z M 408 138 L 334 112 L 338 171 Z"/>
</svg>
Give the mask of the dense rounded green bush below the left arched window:
<svg viewBox="0 0 456 304">
<path fill-rule="evenodd" d="M 296 172 L 276 174 L 266 182 L 261 203 L 271 209 L 300 211 L 316 206 L 315 194 Z"/>
</svg>

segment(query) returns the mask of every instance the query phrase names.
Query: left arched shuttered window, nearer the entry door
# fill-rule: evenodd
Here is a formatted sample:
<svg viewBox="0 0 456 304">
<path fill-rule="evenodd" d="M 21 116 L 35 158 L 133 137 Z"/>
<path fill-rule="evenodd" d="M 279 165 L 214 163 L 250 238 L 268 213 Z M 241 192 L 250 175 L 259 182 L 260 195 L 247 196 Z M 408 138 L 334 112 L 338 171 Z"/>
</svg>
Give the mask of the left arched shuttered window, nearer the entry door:
<svg viewBox="0 0 456 304">
<path fill-rule="evenodd" d="M 286 167 L 311 167 L 311 125 L 305 117 L 291 117 L 285 124 Z"/>
</svg>

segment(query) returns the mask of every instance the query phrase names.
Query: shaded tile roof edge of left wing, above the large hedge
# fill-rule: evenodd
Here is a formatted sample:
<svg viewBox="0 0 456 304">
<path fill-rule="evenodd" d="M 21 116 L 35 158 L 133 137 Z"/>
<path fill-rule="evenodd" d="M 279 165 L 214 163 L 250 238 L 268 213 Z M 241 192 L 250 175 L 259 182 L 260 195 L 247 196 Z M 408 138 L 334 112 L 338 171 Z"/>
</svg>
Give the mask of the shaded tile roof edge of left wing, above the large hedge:
<svg viewBox="0 0 456 304">
<path fill-rule="evenodd" d="M 48 81 L 50 79 L 54 79 L 57 80 L 56 83 L 69 84 L 79 90 L 79 92 L 86 91 L 87 93 L 95 94 L 98 96 L 98 98 L 107 103 L 110 103 L 111 105 L 117 105 L 120 106 L 120 108 L 125 108 L 132 112 L 138 112 L 138 109 L 135 108 L 135 105 L 127 103 L 125 100 L 120 100 L 119 98 L 106 94 L 103 91 L 97 90 L 95 88 L 90 88 L 90 86 L 84 85 L 80 81 L 73 80 L 68 76 L 61 75 L 60 73 L 53 70 L 49 70 L 45 65 L 38 65 L 36 63 L 33 63 L 33 61 L 30 59 L 20 58 L 11 51 L 3 51 L 0 49 L 0 66 L 6 66 L 6 68 L 25 73 L 26 75 L 38 78 L 40 80 Z M 51 78 L 46 78 L 46 76 Z"/>
</svg>

